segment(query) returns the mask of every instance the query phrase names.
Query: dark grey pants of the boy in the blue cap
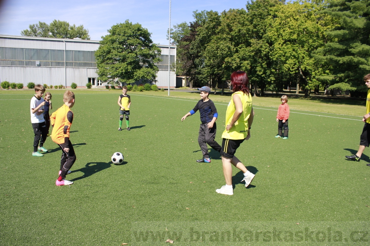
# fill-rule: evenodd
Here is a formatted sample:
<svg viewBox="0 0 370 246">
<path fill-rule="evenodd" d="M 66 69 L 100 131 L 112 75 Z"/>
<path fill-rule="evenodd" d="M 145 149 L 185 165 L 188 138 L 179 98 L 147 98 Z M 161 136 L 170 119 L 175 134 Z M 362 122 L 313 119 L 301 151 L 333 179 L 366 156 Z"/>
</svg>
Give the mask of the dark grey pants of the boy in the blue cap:
<svg viewBox="0 0 370 246">
<path fill-rule="evenodd" d="M 209 158 L 208 147 L 211 146 L 214 150 L 220 152 L 221 146 L 215 141 L 216 137 L 216 123 L 213 124 L 212 128 L 208 128 L 208 123 L 201 124 L 199 127 L 198 143 L 201 147 L 203 158 Z"/>
</svg>

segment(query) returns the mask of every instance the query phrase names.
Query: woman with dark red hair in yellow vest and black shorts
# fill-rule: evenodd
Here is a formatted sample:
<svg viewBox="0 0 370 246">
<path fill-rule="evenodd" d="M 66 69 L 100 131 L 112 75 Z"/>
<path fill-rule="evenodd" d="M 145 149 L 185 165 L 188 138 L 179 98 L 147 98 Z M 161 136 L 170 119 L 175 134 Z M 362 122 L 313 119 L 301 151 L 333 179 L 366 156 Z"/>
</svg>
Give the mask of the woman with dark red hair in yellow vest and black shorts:
<svg viewBox="0 0 370 246">
<path fill-rule="evenodd" d="M 245 187 L 248 187 L 254 178 L 254 174 L 234 156 L 236 149 L 244 140 L 250 138 L 250 126 L 253 122 L 252 97 L 248 90 L 248 76 L 243 71 L 236 71 L 231 74 L 231 85 L 233 94 L 226 110 L 226 129 L 222 133 L 222 168 L 226 185 L 216 189 L 217 193 L 233 195 L 232 188 L 232 167 L 233 164 L 244 173 Z"/>
</svg>

